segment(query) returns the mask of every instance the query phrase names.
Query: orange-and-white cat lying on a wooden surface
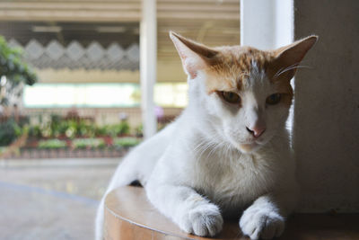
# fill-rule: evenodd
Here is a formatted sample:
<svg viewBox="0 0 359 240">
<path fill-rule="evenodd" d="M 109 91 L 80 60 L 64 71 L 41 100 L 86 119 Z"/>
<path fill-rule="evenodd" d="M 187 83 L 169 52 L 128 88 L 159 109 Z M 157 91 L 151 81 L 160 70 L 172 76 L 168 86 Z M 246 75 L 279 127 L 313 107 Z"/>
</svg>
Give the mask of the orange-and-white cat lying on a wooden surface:
<svg viewBox="0 0 359 240">
<path fill-rule="evenodd" d="M 266 51 L 209 48 L 172 31 L 170 37 L 188 76 L 188 107 L 125 157 L 106 193 L 137 180 L 187 233 L 215 236 L 228 216 L 241 217 L 251 239 L 280 236 L 298 195 L 285 129 L 290 80 L 318 37 Z"/>
</svg>

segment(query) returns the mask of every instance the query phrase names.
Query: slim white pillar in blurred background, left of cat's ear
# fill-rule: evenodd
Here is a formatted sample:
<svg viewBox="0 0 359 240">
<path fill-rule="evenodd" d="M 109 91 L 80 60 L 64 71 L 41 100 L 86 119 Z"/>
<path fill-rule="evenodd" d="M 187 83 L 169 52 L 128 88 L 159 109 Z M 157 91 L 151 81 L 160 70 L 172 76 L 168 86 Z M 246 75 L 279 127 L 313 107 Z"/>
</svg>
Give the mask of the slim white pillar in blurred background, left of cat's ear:
<svg viewBox="0 0 359 240">
<path fill-rule="evenodd" d="M 150 138 L 157 130 L 154 114 L 153 87 L 156 82 L 157 67 L 157 20 L 156 1 L 142 1 L 140 25 L 140 77 L 141 110 L 144 124 L 144 138 Z"/>
</svg>

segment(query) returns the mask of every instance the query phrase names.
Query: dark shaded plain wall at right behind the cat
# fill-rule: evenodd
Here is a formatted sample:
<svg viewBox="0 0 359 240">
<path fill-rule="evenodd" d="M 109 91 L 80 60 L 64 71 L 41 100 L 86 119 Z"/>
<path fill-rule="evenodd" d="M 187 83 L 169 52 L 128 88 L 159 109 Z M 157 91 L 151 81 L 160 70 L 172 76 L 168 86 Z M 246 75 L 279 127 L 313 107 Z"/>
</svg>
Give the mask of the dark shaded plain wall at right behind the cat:
<svg viewBox="0 0 359 240">
<path fill-rule="evenodd" d="M 359 1 L 294 0 L 294 36 L 320 36 L 295 79 L 302 210 L 359 211 Z"/>
</svg>

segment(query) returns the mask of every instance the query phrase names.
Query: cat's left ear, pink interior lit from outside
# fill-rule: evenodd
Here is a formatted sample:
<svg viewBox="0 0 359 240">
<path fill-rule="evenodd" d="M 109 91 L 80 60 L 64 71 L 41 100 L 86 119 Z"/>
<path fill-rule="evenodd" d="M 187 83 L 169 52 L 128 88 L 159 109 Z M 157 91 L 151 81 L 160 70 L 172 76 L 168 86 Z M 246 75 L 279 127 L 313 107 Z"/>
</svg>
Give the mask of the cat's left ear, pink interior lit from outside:
<svg viewBox="0 0 359 240">
<path fill-rule="evenodd" d="M 198 70 L 214 63 L 214 57 L 218 53 L 215 49 L 188 40 L 173 31 L 170 31 L 170 38 L 179 52 L 185 72 L 190 78 L 195 78 Z"/>
</svg>

